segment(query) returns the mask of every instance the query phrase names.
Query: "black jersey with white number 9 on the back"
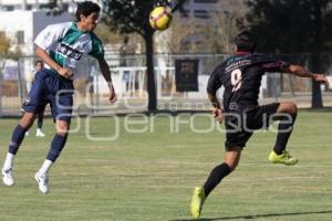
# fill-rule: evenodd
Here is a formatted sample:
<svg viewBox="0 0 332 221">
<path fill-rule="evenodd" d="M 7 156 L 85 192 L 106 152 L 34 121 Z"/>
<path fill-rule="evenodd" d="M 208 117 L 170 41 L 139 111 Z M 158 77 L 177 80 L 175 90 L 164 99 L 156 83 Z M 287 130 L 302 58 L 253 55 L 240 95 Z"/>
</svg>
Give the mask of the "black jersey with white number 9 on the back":
<svg viewBox="0 0 332 221">
<path fill-rule="evenodd" d="M 266 72 L 282 72 L 288 66 L 283 61 L 263 54 L 237 53 L 220 63 L 211 73 L 207 92 L 216 94 L 222 85 L 224 108 L 230 105 L 258 105 L 259 88 Z"/>
</svg>

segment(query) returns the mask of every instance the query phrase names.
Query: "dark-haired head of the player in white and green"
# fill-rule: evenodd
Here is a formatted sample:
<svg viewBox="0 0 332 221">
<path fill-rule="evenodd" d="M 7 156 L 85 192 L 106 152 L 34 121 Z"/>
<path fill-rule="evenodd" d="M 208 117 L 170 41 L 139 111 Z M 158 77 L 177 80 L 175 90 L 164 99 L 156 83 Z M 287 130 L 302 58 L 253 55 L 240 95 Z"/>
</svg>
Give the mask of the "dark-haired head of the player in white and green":
<svg viewBox="0 0 332 221">
<path fill-rule="evenodd" d="M 92 31 L 100 18 L 101 7 L 91 1 L 83 1 L 77 4 L 75 12 L 76 21 L 83 28 L 83 31 Z"/>
</svg>

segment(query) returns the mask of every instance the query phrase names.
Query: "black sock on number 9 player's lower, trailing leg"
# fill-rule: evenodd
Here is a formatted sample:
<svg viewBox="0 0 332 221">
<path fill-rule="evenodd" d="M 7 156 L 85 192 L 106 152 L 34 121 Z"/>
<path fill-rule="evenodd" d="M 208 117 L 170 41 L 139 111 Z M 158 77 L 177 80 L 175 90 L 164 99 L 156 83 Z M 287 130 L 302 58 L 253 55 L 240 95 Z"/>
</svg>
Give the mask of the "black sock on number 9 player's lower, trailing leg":
<svg viewBox="0 0 332 221">
<path fill-rule="evenodd" d="M 207 197 L 215 189 L 215 187 L 219 185 L 221 179 L 230 172 L 231 169 L 226 162 L 222 162 L 221 165 L 215 167 L 204 185 L 205 196 Z"/>
</svg>

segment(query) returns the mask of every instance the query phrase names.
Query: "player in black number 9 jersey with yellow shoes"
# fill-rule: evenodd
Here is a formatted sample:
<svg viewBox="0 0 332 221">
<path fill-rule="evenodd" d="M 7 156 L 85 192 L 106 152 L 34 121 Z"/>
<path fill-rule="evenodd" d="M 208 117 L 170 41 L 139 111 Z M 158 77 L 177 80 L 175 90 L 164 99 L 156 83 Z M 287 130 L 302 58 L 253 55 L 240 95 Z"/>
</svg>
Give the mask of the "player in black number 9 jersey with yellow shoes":
<svg viewBox="0 0 332 221">
<path fill-rule="evenodd" d="M 298 159 L 286 151 L 297 118 L 297 105 L 292 102 L 281 102 L 259 106 L 259 87 L 264 72 L 290 73 L 326 83 L 323 74 L 314 74 L 300 65 L 271 60 L 262 54 L 253 54 L 256 39 L 248 31 L 243 31 L 237 36 L 236 44 L 237 53 L 220 63 L 208 81 L 207 92 L 214 105 L 214 117 L 219 123 L 225 119 L 226 155 L 224 162 L 211 170 L 205 185 L 194 189 L 190 212 L 195 218 L 200 215 L 203 204 L 212 189 L 224 177 L 236 169 L 241 150 L 253 130 L 268 127 L 271 119 L 280 120 L 280 123 L 269 160 L 288 166 L 298 162 Z M 225 87 L 222 110 L 216 96 L 216 92 L 221 85 Z"/>
</svg>

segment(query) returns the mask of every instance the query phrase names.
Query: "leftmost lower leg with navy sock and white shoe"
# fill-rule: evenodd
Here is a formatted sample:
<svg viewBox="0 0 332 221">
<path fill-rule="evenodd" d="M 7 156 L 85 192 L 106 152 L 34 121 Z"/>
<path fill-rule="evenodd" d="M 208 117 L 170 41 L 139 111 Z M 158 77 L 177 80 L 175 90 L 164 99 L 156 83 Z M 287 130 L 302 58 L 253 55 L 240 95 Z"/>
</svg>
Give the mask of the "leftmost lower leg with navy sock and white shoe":
<svg viewBox="0 0 332 221">
<path fill-rule="evenodd" d="M 25 137 L 25 133 L 32 126 L 33 120 L 34 120 L 34 114 L 25 112 L 18 126 L 13 129 L 8 152 L 2 166 L 2 176 L 3 176 L 2 181 L 6 186 L 14 185 L 14 179 L 12 175 L 13 160 Z"/>
</svg>

